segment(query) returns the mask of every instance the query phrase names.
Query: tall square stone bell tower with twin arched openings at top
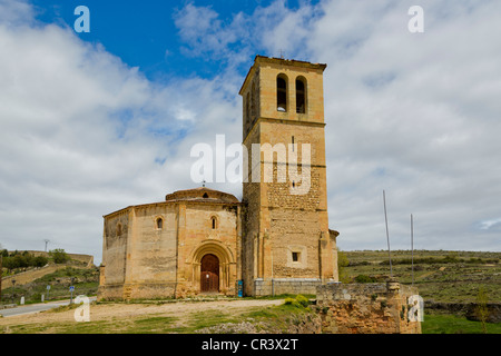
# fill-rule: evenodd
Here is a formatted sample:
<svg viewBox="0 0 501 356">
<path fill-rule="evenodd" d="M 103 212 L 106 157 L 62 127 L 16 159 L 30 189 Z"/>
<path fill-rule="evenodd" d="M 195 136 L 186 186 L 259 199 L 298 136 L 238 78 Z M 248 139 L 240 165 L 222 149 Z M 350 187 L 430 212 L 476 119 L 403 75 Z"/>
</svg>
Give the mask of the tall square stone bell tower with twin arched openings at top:
<svg viewBox="0 0 501 356">
<path fill-rule="evenodd" d="M 242 86 L 243 278 L 246 295 L 315 294 L 337 280 L 328 229 L 323 72 L 257 56 Z"/>
</svg>

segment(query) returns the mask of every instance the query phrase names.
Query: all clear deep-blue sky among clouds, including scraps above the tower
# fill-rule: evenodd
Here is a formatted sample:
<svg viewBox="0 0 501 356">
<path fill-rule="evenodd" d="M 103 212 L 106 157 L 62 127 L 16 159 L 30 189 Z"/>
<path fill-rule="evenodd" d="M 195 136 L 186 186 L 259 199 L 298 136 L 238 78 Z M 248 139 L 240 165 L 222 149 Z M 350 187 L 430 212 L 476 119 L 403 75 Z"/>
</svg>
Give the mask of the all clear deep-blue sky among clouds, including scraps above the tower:
<svg viewBox="0 0 501 356">
<path fill-rule="evenodd" d="M 45 23 L 72 27 L 78 16 L 75 9 L 85 4 L 91 12 L 91 31 L 77 36 L 89 42 L 101 43 L 131 67 L 140 67 L 151 80 L 171 76 L 214 77 L 224 70 L 225 61 L 214 57 L 186 56 L 186 43 L 178 33 L 176 19 L 187 4 L 209 9 L 216 21 L 229 24 L 238 13 L 252 16 L 256 8 L 266 8 L 273 1 L 32 1 L 36 18 Z M 314 4 L 317 1 L 310 1 Z M 306 3 L 301 1 L 301 3 Z M 301 7 L 298 1 L 284 2 L 287 9 Z M 232 43 L 238 48 L 239 41 Z M 189 47 L 189 46 L 188 46 Z M 277 53 L 269 53 L 278 56 Z M 268 55 L 268 53 L 266 53 Z M 250 57 L 252 59 L 252 57 Z M 246 67 L 240 66 L 245 75 Z"/>
</svg>

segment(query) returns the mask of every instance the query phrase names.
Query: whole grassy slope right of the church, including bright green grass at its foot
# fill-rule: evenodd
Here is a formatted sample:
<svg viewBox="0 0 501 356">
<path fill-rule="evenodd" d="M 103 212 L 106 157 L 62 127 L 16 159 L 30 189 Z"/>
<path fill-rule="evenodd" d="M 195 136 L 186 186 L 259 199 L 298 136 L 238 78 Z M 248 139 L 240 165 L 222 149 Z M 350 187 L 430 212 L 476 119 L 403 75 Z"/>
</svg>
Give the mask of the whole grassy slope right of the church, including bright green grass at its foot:
<svg viewBox="0 0 501 356">
<path fill-rule="evenodd" d="M 343 256 L 344 255 L 344 256 Z M 501 253 L 409 250 L 342 251 L 341 274 L 345 283 L 384 281 L 391 274 L 399 281 L 414 285 L 426 300 L 478 303 L 483 290 L 487 303 L 501 301 Z M 412 265 L 412 259 L 414 264 Z M 485 324 L 489 334 L 501 334 L 501 324 Z M 423 334 L 480 334 L 480 322 L 462 314 L 424 309 Z"/>
</svg>

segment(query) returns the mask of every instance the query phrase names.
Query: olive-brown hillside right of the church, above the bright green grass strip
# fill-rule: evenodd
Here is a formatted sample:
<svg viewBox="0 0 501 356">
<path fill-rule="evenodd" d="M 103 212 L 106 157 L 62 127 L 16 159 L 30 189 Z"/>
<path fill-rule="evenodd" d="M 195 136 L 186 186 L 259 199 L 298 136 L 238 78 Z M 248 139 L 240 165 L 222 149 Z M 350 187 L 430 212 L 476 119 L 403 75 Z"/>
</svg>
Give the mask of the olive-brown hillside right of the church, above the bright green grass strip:
<svg viewBox="0 0 501 356">
<path fill-rule="evenodd" d="M 348 280 L 364 275 L 385 280 L 390 274 L 387 251 L 346 251 Z M 477 251 L 414 251 L 414 271 L 411 251 L 391 253 L 392 271 L 402 284 L 412 284 L 425 300 L 474 303 L 480 288 L 489 301 L 501 301 L 501 253 Z"/>
</svg>

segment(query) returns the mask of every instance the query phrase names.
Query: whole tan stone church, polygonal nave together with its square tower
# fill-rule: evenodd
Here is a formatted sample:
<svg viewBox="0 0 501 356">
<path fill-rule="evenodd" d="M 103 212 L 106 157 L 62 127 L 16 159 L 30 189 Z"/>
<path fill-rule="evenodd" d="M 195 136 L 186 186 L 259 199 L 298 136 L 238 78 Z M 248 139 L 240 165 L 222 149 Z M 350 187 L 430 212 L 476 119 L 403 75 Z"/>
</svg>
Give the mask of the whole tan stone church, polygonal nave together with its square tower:
<svg viewBox="0 0 501 356">
<path fill-rule="evenodd" d="M 327 215 L 325 68 L 256 56 L 239 91 L 243 145 L 250 151 L 256 144 L 293 150 L 308 144 L 310 162 L 297 159 L 297 168 L 310 174 L 310 189 L 291 194 L 304 182 L 276 179 L 289 162 L 259 154 L 248 175 L 259 169 L 263 178 L 271 165 L 275 179 L 244 179 L 242 201 L 200 187 L 105 215 L 99 299 L 315 294 L 316 286 L 337 281 L 338 233 L 328 229 Z"/>
</svg>

